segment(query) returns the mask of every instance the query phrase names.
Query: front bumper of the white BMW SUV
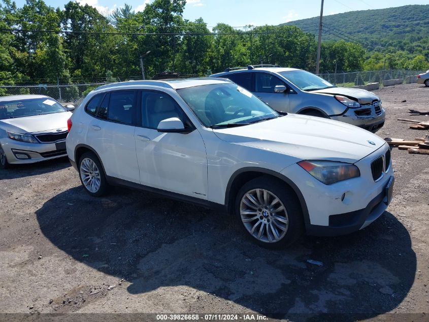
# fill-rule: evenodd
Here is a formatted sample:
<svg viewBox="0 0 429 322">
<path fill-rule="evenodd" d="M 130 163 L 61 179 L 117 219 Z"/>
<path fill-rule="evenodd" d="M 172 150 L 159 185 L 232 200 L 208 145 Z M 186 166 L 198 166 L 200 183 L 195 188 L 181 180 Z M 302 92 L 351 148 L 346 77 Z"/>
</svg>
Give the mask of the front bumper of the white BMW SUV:
<svg viewBox="0 0 429 322">
<path fill-rule="evenodd" d="M 298 164 L 281 171 L 300 190 L 306 202 L 304 221 L 308 235 L 336 236 L 357 231 L 376 220 L 387 208 L 386 186 L 393 177 L 390 165 L 374 181 L 371 163 L 385 155 L 387 143 L 357 161 L 360 177 L 324 185 Z"/>
</svg>

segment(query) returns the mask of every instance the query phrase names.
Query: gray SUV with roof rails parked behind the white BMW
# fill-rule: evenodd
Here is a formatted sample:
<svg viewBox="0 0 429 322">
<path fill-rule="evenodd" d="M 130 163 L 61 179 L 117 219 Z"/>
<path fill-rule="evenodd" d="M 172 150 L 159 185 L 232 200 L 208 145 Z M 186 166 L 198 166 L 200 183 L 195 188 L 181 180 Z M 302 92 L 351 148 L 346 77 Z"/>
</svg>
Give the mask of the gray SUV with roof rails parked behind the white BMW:
<svg viewBox="0 0 429 322">
<path fill-rule="evenodd" d="M 274 65 L 227 68 L 210 77 L 228 78 L 279 112 L 329 118 L 376 132 L 385 110 L 374 93 L 337 87 L 301 69 Z"/>
</svg>

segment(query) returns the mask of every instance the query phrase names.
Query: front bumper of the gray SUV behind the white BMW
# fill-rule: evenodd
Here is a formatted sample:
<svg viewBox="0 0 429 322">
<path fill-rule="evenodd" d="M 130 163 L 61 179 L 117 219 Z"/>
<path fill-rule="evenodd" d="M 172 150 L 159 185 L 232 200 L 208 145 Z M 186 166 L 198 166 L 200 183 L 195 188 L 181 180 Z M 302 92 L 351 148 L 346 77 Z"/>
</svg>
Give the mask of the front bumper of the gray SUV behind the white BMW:
<svg viewBox="0 0 429 322">
<path fill-rule="evenodd" d="M 349 108 L 344 113 L 340 115 L 331 115 L 329 118 L 331 118 L 331 120 L 355 125 L 375 133 L 384 126 L 386 117 L 384 108 L 381 107 L 381 105 L 380 108 L 381 113 L 379 113 L 379 115 L 376 114 L 374 105 L 363 105 L 356 109 Z M 364 111 L 367 111 L 368 114 L 360 113 Z"/>
</svg>

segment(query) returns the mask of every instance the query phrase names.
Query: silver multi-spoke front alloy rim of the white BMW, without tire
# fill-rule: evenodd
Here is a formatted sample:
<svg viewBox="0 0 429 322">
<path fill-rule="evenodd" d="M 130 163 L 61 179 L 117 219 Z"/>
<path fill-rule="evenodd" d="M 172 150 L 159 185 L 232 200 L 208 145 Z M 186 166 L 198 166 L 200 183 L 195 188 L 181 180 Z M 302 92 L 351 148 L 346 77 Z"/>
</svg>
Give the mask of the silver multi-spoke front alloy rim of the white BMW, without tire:
<svg viewBox="0 0 429 322">
<path fill-rule="evenodd" d="M 244 194 L 240 202 L 240 216 L 250 235 L 265 243 L 280 241 L 289 226 L 284 204 L 266 189 L 252 189 Z"/>
</svg>

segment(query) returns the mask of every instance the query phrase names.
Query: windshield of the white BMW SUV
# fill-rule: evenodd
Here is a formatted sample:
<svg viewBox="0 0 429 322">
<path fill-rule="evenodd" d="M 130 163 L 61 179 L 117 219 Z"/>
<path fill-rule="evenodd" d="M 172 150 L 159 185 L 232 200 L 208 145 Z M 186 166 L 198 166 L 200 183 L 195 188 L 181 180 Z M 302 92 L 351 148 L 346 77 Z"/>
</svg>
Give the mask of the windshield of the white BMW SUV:
<svg viewBox="0 0 429 322">
<path fill-rule="evenodd" d="M 236 84 L 187 87 L 177 93 L 206 127 L 243 126 L 280 116 Z"/>
</svg>

